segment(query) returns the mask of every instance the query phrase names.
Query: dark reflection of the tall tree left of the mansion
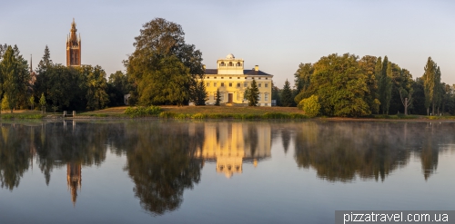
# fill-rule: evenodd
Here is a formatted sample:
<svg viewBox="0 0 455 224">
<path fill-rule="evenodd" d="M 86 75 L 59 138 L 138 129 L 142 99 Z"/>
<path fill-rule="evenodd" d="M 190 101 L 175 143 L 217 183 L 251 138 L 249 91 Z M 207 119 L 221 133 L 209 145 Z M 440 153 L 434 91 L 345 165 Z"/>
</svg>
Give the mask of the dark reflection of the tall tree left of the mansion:
<svg viewBox="0 0 455 224">
<path fill-rule="evenodd" d="M 183 191 L 200 180 L 202 160 L 195 157 L 202 128 L 188 134 L 187 123 L 149 123 L 128 129 L 126 170 L 135 182 L 136 197 L 152 214 L 177 209 Z M 129 141 L 134 136 L 135 141 Z M 200 146 L 199 146 L 200 147 Z"/>
</svg>

